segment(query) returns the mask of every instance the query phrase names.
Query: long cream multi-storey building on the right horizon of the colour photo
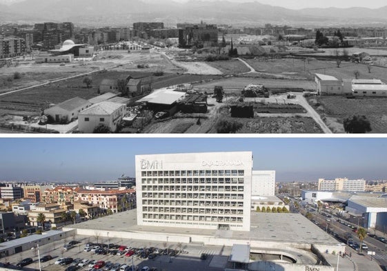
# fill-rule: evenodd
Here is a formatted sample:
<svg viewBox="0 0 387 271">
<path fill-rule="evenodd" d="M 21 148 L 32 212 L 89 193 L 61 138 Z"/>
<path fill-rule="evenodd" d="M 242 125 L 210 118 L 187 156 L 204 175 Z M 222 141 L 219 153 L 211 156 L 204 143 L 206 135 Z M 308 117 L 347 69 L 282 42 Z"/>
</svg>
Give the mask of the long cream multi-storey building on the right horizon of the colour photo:
<svg viewBox="0 0 387 271">
<path fill-rule="evenodd" d="M 348 180 L 347 178 L 336 178 L 334 180 L 319 179 L 318 190 L 323 191 L 365 191 L 366 181 L 364 179 Z"/>
</svg>

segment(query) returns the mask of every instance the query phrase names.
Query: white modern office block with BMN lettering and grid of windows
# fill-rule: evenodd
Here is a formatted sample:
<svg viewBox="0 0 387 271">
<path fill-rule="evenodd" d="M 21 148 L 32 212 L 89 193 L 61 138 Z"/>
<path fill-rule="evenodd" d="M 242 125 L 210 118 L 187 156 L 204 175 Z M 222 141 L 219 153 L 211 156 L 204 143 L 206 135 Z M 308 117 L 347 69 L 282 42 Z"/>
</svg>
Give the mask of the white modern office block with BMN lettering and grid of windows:
<svg viewBox="0 0 387 271">
<path fill-rule="evenodd" d="M 137 224 L 250 230 L 252 152 L 136 155 Z"/>
</svg>

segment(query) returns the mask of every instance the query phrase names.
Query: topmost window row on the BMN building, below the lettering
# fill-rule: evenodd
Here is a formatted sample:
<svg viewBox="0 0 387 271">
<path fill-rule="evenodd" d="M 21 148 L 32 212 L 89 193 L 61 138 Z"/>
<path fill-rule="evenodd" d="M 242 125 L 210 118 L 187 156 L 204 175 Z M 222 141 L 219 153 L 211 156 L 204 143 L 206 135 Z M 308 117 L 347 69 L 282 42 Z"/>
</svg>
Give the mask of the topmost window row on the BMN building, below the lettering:
<svg viewBox="0 0 387 271">
<path fill-rule="evenodd" d="M 244 170 L 159 170 L 142 171 L 141 177 L 160 176 L 244 176 Z"/>
</svg>

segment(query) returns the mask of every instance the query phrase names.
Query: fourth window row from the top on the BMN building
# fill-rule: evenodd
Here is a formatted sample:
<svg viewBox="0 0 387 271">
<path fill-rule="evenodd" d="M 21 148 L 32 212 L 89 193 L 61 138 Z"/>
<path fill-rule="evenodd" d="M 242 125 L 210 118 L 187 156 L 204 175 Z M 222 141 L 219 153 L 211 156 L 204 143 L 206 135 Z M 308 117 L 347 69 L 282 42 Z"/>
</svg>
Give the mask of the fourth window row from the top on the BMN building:
<svg viewBox="0 0 387 271">
<path fill-rule="evenodd" d="M 244 194 L 142 193 L 143 199 L 244 199 Z"/>
</svg>

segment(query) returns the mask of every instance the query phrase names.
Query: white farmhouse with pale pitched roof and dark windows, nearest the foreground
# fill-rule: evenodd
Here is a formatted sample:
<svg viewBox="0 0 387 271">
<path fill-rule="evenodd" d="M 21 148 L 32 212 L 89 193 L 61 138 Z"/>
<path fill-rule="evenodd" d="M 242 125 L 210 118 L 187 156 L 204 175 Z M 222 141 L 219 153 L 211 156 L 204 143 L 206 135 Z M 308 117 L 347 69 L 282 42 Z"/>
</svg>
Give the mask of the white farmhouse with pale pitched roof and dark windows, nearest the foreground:
<svg viewBox="0 0 387 271">
<path fill-rule="evenodd" d="M 126 114 L 126 105 L 103 101 L 90 106 L 79 114 L 79 131 L 92 133 L 99 124 L 104 124 L 115 132 L 117 125 Z"/>
</svg>

